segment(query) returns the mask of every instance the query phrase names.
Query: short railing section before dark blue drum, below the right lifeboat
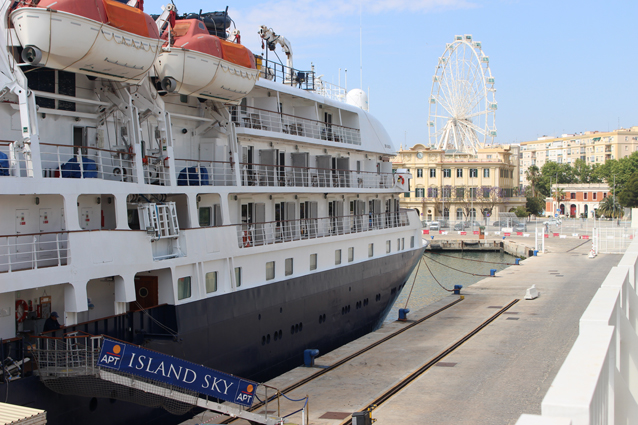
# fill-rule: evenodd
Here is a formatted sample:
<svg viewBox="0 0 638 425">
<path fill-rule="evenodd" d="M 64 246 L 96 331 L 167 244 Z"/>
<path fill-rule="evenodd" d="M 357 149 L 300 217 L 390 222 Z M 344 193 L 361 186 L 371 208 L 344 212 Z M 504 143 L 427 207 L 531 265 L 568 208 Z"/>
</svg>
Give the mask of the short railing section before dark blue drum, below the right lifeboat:
<svg viewBox="0 0 638 425">
<path fill-rule="evenodd" d="M 230 161 L 176 159 L 178 186 L 234 186 L 235 173 Z"/>
</svg>

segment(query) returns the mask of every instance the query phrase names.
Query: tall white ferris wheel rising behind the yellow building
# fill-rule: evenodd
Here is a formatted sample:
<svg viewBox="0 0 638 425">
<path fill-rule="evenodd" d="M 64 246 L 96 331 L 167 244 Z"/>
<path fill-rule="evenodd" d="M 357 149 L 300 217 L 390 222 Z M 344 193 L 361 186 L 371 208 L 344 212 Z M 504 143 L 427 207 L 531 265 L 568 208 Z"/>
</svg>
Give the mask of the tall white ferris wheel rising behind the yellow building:
<svg viewBox="0 0 638 425">
<path fill-rule="evenodd" d="M 497 109 L 490 59 L 480 41 L 457 35 L 446 44 L 432 81 L 430 146 L 476 154 L 496 137 Z"/>
</svg>

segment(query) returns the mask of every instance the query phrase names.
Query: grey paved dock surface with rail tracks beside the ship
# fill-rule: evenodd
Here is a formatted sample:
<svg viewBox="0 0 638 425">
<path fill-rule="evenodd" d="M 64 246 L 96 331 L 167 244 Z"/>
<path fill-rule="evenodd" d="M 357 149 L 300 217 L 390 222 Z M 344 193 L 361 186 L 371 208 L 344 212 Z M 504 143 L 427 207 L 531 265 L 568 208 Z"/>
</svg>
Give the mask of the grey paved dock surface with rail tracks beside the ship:
<svg viewBox="0 0 638 425">
<path fill-rule="evenodd" d="M 497 277 L 463 288 L 464 299 L 287 394 L 310 396 L 309 423 L 338 425 L 388 388 L 443 352 L 501 307 L 504 314 L 416 381 L 372 412 L 378 425 L 514 424 L 522 413 L 540 414 L 545 393 L 578 335 L 578 320 L 620 255 L 589 259 L 591 242 L 546 240 L 547 253 L 511 266 Z M 471 270 L 472 265 L 467 266 Z M 443 282 L 448 287 L 453 282 Z M 524 300 L 536 284 L 541 296 Z M 409 288 L 406 288 L 406 290 Z M 329 366 L 457 299 L 449 296 L 317 359 Z M 309 347 L 311 348 L 311 347 Z M 317 372 L 296 368 L 268 382 L 283 389 Z M 298 403 L 281 402 L 287 414 Z M 268 410 L 277 410 L 271 403 Z M 263 412 L 263 409 L 261 409 Z M 185 424 L 220 423 L 206 413 Z M 301 423 L 299 414 L 289 421 Z M 237 420 L 234 424 L 248 424 Z"/>
</svg>

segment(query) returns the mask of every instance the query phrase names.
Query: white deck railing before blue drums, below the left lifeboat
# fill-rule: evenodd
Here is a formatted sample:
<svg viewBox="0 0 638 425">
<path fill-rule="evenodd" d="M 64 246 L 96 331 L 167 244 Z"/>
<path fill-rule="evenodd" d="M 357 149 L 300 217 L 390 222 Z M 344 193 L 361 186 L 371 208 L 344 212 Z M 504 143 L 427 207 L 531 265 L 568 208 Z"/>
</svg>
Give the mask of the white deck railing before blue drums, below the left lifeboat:
<svg viewBox="0 0 638 425">
<path fill-rule="evenodd" d="M 137 183 L 135 153 L 88 146 L 40 143 L 43 177 Z"/>
</svg>

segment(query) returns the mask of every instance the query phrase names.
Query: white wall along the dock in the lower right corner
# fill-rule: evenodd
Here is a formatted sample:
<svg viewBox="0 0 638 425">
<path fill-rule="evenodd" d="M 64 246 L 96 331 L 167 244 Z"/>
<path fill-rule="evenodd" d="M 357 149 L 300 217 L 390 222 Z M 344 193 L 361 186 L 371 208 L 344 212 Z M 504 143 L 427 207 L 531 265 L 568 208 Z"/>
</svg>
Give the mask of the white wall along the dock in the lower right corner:
<svg viewBox="0 0 638 425">
<path fill-rule="evenodd" d="M 638 423 L 638 242 L 611 269 L 541 405 L 517 425 Z"/>
</svg>

